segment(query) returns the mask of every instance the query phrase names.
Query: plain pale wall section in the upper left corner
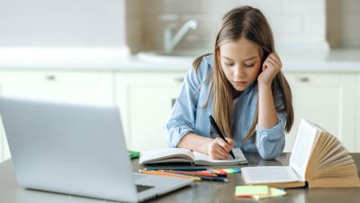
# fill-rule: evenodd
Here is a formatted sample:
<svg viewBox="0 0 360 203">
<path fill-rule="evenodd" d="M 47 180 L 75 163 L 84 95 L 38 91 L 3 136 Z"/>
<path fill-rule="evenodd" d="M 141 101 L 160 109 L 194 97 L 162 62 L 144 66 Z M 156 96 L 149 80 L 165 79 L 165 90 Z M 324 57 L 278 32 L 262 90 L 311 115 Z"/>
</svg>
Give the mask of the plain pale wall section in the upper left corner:
<svg viewBox="0 0 360 203">
<path fill-rule="evenodd" d="M 121 47 L 125 0 L 0 0 L 0 47 Z"/>
</svg>

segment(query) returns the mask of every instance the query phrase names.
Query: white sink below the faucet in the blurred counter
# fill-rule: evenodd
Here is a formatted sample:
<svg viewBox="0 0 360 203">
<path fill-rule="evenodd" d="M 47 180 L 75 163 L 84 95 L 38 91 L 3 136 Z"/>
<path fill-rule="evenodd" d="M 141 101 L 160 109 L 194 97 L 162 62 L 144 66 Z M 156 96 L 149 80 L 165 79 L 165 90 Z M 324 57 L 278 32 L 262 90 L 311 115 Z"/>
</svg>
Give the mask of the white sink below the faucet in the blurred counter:
<svg viewBox="0 0 360 203">
<path fill-rule="evenodd" d="M 175 50 L 171 53 L 165 51 L 141 51 L 137 54 L 139 60 L 151 62 L 186 62 L 192 63 L 196 57 L 209 53 L 211 50 Z"/>
</svg>

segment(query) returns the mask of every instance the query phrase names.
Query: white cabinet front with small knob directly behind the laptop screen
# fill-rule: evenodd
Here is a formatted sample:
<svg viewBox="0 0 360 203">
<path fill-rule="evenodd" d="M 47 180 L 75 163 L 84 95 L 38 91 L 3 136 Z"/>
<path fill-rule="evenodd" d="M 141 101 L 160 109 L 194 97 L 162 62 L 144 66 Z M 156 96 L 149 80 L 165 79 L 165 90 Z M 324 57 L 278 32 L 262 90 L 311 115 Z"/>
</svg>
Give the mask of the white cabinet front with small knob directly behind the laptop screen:
<svg viewBox="0 0 360 203">
<path fill-rule="evenodd" d="M 89 103 L 113 103 L 113 75 L 96 71 L 1 70 L 0 95 Z M 0 161 L 10 157 L 0 126 Z"/>
</svg>

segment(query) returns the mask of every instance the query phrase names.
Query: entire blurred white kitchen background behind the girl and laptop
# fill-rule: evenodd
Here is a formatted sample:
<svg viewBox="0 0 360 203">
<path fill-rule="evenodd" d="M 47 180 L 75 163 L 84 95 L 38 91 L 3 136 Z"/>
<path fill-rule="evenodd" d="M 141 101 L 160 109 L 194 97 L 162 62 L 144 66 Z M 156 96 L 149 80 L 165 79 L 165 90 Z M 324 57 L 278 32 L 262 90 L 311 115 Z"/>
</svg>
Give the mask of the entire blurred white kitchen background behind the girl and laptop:
<svg viewBox="0 0 360 203">
<path fill-rule="evenodd" d="M 358 0 L 0 0 L 0 95 L 114 103 L 131 150 L 166 147 L 185 72 L 238 5 L 266 15 L 284 61 L 295 106 L 285 152 L 302 117 L 360 152 Z"/>
</svg>

